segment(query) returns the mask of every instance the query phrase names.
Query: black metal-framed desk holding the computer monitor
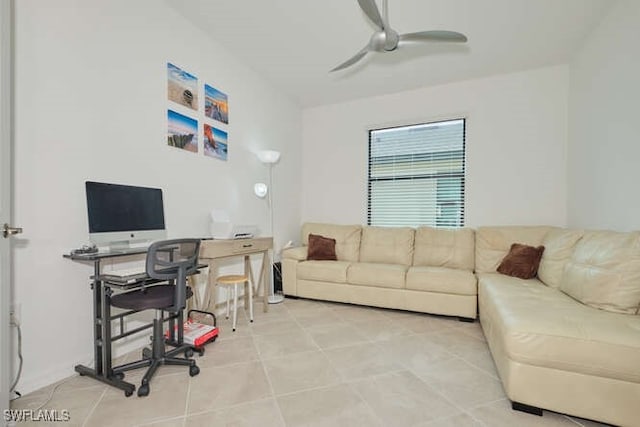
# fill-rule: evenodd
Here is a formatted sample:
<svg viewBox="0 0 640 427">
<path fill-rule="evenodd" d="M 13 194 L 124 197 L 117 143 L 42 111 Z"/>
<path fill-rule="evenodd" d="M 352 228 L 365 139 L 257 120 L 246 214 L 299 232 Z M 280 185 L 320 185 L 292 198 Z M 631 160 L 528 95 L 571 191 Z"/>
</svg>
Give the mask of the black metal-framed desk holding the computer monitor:
<svg viewBox="0 0 640 427">
<path fill-rule="evenodd" d="M 112 251 L 106 253 L 92 253 L 92 254 L 65 254 L 64 258 L 71 259 L 73 261 L 88 261 L 93 263 L 93 276 L 91 276 L 91 289 L 93 291 L 93 361 L 94 368 L 89 368 L 84 365 L 76 365 L 75 371 L 80 375 L 86 375 L 94 378 L 103 383 L 109 384 L 113 387 L 119 388 L 124 391 L 125 396 L 131 396 L 135 390 L 135 385 L 123 381 L 121 378 L 113 374 L 113 365 L 111 361 L 111 344 L 114 340 L 124 338 L 136 332 L 140 332 L 144 329 L 151 328 L 152 324 L 140 326 L 133 330 L 124 332 L 122 326 L 122 319 L 136 311 L 131 310 L 123 312 L 116 316 L 111 315 L 111 294 L 112 288 L 117 289 L 133 289 L 144 285 L 151 285 L 154 283 L 165 282 L 165 280 L 155 280 L 149 277 L 136 281 L 134 283 L 111 283 L 107 282 L 104 277 L 101 276 L 101 261 L 107 258 L 116 258 L 129 255 L 142 255 L 146 254 L 146 248 L 127 249 L 121 251 Z M 204 267 L 204 266 L 201 266 Z M 112 337 L 111 321 L 113 319 L 120 319 L 120 334 L 116 337 Z M 177 321 L 178 325 L 182 324 L 182 313 L 172 315 L 163 318 L 164 321 L 169 320 L 170 331 L 173 331 L 173 322 Z M 182 332 L 181 328 L 178 328 L 179 334 Z M 181 337 L 178 337 L 180 341 Z"/>
</svg>

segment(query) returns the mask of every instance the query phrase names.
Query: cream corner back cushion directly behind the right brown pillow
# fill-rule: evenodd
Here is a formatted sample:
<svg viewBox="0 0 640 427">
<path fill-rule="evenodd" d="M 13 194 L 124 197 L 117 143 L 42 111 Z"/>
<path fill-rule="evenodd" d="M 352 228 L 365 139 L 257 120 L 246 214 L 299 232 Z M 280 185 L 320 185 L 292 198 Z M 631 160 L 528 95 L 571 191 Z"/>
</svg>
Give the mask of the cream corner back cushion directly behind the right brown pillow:
<svg viewBox="0 0 640 427">
<path fill-rule="evenodd" d="M 504 226 L 479 227 L 476 230 L 476 273 L 495 273 L 513 243 L 541 246 L 554 227 Z"/>
</svg>

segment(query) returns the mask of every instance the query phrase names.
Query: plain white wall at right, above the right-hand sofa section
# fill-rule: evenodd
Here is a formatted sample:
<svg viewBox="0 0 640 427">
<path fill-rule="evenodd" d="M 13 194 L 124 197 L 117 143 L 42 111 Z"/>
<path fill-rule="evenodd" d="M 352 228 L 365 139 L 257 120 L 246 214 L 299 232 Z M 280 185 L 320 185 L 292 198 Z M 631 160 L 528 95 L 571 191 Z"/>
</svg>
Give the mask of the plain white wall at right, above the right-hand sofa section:
<svg viewBox="0 0 640 427">
<path fill-rule="evenodd" d="M 570 64 L 568 222 L 640 228 L 640 2 L 622 1 Z"/>
</svg>

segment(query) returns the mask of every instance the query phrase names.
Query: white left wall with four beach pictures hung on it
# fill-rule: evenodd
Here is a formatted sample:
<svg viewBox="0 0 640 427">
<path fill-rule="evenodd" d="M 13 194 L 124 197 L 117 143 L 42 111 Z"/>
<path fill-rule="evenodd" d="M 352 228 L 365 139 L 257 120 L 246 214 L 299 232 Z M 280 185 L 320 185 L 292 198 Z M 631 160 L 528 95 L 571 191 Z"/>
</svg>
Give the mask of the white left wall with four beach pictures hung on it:
<svg viewBox="0 0 640 427">
<path fill-rule="evenodd" d="M 164 2 L 16 6 L 15 218 L 25 234 L 13 294 L 25 358 L 18 389 L 28 392 L 92 358 L 92 270 L 62 258 L 87 243 L 85 180 L 162 188 L 172 237 L 207 235 L 214 207 L 268 232 L 266 204 L 253 195 L 267 169 L 252 153 L 280 150 L 279 247 L 298 234 L 302 131 L 295 103 Z M 168 61 L 195 74 L 201 88 L 206 81 L 229 95 L 227 162 L 205 157 L 201 137 L 199 154 L 167 146 Z"/>
</svg>

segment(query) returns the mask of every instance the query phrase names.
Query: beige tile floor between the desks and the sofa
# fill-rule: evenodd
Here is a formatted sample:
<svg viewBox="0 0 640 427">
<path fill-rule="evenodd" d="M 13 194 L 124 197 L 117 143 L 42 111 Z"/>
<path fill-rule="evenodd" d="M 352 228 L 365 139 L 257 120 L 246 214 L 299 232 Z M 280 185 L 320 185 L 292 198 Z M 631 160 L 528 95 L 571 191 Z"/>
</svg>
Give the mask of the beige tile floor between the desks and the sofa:
<svg viewBox="0 0 640 427">
<path fill-rule="evenodd" d="M 148 397 L 126 398 L 75 376 L 45 409 L 70 411 L 55 425 L 88 427 L 600 425 L 512 411 L 478 322 L 292 299 L 256 310 L 253 324 L 238 314 L 236 332 L 219 320 L 196 377 L 161 367 Z M 12 408 L 37 408 L 52 387 Z"/>
</svg>

